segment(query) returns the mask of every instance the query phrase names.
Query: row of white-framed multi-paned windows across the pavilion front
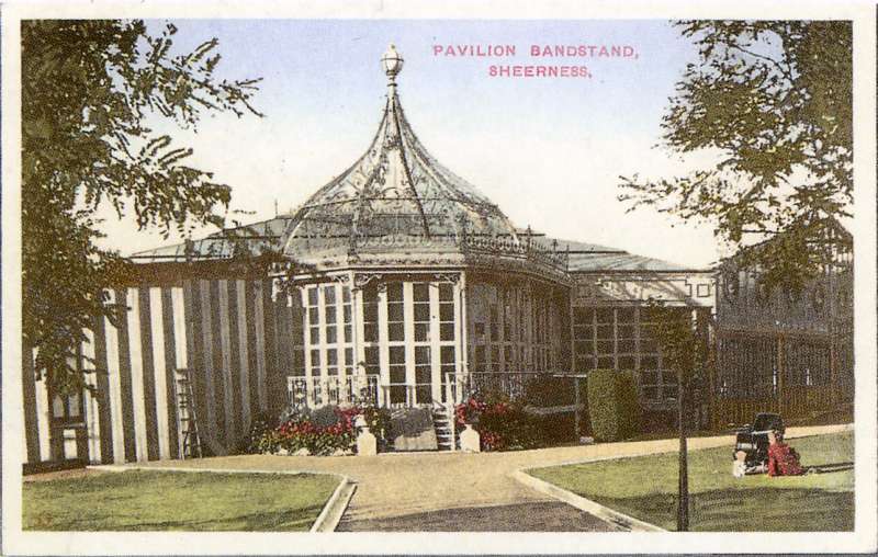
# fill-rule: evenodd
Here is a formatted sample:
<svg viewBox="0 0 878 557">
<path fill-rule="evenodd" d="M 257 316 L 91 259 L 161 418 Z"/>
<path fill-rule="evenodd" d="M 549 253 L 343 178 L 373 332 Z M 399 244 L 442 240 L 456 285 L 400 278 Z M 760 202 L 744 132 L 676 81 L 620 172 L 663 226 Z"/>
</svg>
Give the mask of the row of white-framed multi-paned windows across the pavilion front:
<svg viewBox="0 0 878 557">
<path fill-rule="evenodd" d="M 304 345 L 294 348 L 294 374 L 306 375 L 309 368 L 308 375 L 314 376 L 336 376 L 342 370 L 345 375 L 352 375 L 358 365 L 350 287 L 306 286 L 302 298 L 304 311 L 292 332 L 297 339 L 303 339 L 301 333 L 295 337 L 297 331 L 307 334 Z M 520 287 L 476 284 L 471 289 L 469 305 L 473 372 L 551 371 L 560 365 L 564 331 L 551 297 Z M 392 398 L 402 397 L 403 390 L 414 387 L 419 401 L 425 401 L 420 399 L 430 396 L 434 370 L 441 383 L 446 382 L 446 374 L 457 371 L 455 310 L 451 283 L 367 285 L 362 289 L 363 371 L 369 375 L 381 374 L 384 345 L 385 380 Z M 644 399 L 676 398 L 676 374 L 664 370 L 655 323 L 640 308 L 577 307 L 572 325 L 577 372 L 635 370 Z M 434 350 L 439 351 L 437 361 Z M 406 365 L 407 357 L 412 359 L 413 367 Z M 408 376 L 412 368 L 414 376 Z"/>
</svg>

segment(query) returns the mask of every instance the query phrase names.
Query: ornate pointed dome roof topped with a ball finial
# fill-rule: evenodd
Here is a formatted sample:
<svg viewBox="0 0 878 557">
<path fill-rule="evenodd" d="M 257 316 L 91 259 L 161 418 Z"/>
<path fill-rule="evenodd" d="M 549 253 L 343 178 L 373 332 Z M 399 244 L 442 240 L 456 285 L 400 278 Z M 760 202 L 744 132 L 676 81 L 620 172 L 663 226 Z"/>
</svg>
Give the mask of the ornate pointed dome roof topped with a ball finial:
<svg viewBox="0 0 878 557">
<path fill-rule="evenodd" d="M 284 253 L 305 258 L 361 246 L 457 246 L 461 235 L 511 246 L 509 219 L 473 185 L 440 164 L 418 140 L 396 93 L 403 59 L 391 45 L 382 58 L 387 101 L 365 154 L 294 214 Z"/>
</svg>

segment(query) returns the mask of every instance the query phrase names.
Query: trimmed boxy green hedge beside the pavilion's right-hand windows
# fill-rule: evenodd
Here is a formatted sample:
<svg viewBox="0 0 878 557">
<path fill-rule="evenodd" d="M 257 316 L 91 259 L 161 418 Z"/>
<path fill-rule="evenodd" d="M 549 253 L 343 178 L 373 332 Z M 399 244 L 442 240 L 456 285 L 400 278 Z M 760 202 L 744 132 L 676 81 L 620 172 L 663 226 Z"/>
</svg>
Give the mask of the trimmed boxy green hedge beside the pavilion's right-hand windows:
<svg viewBox="0 0 878 557">
<path fill-rule="evenodd" d="M 641 409 L 634 372 L 589 372 L 588 417 L 597 441 L 619 441 L 638 433 Z"/>
</svg>

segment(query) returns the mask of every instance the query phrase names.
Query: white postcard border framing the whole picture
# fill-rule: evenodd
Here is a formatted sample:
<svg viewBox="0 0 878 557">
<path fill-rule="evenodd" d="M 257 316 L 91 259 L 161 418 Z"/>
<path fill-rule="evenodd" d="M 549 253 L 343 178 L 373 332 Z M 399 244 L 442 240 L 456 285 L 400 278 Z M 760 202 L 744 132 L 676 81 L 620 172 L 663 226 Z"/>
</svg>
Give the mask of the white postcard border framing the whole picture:
<svg viewBox="0 0 878 557">
<path fill-rule="evenodd" d="M 22 533 L 18 23 L 29 18 L 851 19 L 855 70 L 856 530 L 853 533 Z M 876 549 L 876 16 L 868 2 L 574 1 L 7 3 L 2 9 L 2 543 L 7 555 L 836 553 Z M 11 373 L 10 373 L 11 372 Z"/>
</svg>

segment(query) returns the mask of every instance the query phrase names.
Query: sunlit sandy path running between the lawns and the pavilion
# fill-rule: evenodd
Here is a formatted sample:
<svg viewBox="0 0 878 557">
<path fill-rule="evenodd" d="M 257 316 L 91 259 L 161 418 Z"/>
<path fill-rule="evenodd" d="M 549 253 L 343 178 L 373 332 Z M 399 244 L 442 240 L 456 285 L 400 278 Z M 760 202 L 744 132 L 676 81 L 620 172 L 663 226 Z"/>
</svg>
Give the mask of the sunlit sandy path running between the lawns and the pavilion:
<svg viewBox="0 0 878 557">
<path fill-rule="evenodd" d="M 849 425 L 789 428 L 787 437 L 832 433 Z M 689 448 L 734 443 L 732 435 L 694 437 Z M 301 470 L 344 474 L 358 484 L 345 522 L 413 516 L 460 508 L 492 508 L 555 502 L 510 475 L 521 468 L 555 466 L 621 456 L 672 452 L 677 440 L 601 443 L 509 453 L 389 453 L 378 456 L 311 457 L 240 455 L 193 461 L 162 461 L 154 466 L 236 470 Z M 383 528 L 382 528 L 383 530 Z"/>
</svg>

